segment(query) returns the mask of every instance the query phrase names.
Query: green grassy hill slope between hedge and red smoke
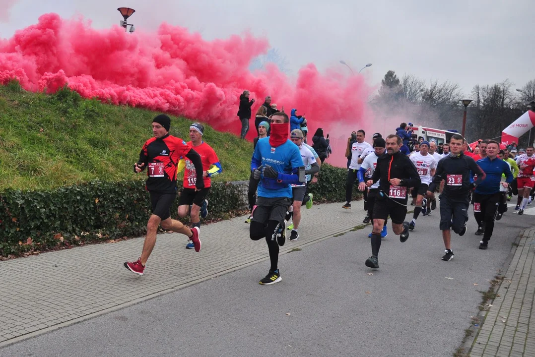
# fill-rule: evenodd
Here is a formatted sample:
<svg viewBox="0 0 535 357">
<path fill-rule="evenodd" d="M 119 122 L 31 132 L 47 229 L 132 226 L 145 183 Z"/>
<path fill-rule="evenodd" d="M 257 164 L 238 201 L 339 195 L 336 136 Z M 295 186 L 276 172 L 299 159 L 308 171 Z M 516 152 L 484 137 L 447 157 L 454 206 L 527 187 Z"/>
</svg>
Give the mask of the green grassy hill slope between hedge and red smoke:
<svg viewBox="0 0 535 357">
<path fill-rule="evenodd" d="M 156 113 L 103 104 L 60 90 L 54 95 L 0 86 L 0 190 L 50 189 L 94 179 L 146 179 L 132 165 L 152 136 Z M 170 134 L 189 140 L 191 121 L 171 117 Z M 247 180 L 253 145 L 205 126 L 223 174 L 215 181 Z"/>
</svg>

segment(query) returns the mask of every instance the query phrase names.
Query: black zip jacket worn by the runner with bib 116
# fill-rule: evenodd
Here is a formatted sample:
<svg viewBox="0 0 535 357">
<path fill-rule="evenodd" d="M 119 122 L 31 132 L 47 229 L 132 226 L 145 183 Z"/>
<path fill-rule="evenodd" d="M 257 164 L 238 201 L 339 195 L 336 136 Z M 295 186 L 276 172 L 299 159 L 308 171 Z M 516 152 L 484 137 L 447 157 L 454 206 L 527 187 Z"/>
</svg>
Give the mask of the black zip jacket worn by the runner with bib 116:
<svg viewBox="0 0 535 357">
<path fill-rule="evenodd" d="M 414 166 L 409 157 L 401 151 L 398 151 L 393 155 L 387 153 L 381 155 L 377 159 L 377 166 L 371 179 L 374 183 L 377 182 L 377 180 L 381 180 L 379 189 L 381 189 L 387 196 L 390 192 L 389 180 L 391 179 L 403 180 L 400 186 L 405 187 L 419 187 L 419 185 L 422 184 L 416 166 Z M 407 190 L 407 192 L 408 191 L 409 190 Z M 403 201 L 403 199 L 397 200 Z M 407 198 L 405 198 L 404 201 L 407 202 Z"/>
</svg>

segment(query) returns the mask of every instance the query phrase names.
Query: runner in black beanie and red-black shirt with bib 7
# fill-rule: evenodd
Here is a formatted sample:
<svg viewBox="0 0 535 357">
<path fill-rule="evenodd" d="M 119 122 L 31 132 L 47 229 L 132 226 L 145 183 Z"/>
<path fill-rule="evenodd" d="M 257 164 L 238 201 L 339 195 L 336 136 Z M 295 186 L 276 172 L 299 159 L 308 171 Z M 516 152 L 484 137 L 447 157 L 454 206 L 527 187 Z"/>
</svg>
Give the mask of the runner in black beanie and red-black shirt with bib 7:
<svg viewBox="0 0 535 357">
<path fill-rule="evenodd" d="M 192 240 L 195 251 L 201 250 L 198 227 L 188 228 L 180 221 L 171 219 L 170 208 L 177 197 L 177 166 L 180 157 L 187 157 L 198 169 L 196 176 L 197 190 L 204 189 L 202 180 L 202 161 L 199 154 L 178 137 L 169 135 L 171 118 L 165 114 L 157 115 L 152 120 L 154 137 L 148 139 L 139 154 L 139 161 L 134 164 L 134 172 L 147 170 L 146 189 L 150 194 L 152 214 L 147 223 L 147 236 L 143 243 L 141 257 L 133 262 L 125 262 L 125 267 L 137 275 L 143 275 L 145 264 L 156 244 L 158 226 L 184 234 Z"/>
</svg>

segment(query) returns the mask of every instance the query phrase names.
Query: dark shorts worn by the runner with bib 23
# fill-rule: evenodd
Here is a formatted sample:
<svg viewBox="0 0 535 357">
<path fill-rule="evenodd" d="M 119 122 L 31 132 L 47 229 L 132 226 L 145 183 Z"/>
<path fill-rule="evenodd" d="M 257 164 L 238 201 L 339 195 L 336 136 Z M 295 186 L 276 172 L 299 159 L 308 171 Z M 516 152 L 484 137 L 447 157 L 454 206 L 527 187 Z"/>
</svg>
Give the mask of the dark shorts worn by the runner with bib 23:
<svg viewBox="0 0 535 357">
<path fill-rule="evenodd" d="M 449 230 L 458 234 L 468 222 L 468 207 L 470 197 L 468 194 L 461 197 L 450 197 L 442 193 L 440 200 L 440 230 Z"/>
</svg>

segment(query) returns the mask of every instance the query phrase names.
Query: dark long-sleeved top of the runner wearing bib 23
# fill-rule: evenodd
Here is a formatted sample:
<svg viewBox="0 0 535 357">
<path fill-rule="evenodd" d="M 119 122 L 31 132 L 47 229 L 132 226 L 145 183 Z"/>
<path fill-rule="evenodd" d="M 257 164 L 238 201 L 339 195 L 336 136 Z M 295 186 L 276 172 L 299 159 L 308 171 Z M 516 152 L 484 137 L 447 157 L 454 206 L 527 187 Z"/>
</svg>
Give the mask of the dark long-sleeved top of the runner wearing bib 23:
<svg viewBox="0 0 535 357">
<path fill-rule="evenodd" d="M 470 182 L 470 177 L 473 174 L 477 175 L 477 180 L 474 183 Z M 462 175 L 462 184 L 460 186 L 455 185 L 454 177 L 451 175 Z M 442 193 L 446 193 L 452 198 L 464 198 L 474 185 L 478 185 L 485 180 L 485 173 L 476 164 L 476 161 L 461 152 L 457 156 L 449 155 L 438 162 L 437 171 L 435 171 L 433 181 L 429 185 L 429 191 L 433 192 L 442 180 L 445 180 Z"/>
</svg>

